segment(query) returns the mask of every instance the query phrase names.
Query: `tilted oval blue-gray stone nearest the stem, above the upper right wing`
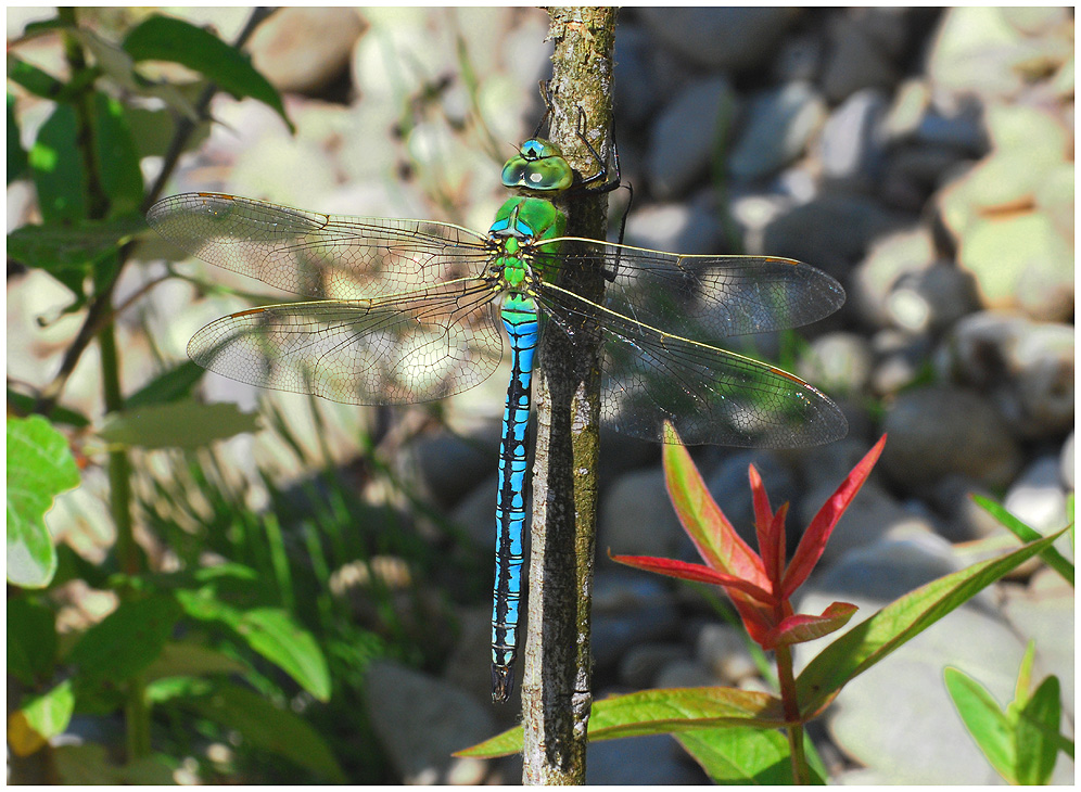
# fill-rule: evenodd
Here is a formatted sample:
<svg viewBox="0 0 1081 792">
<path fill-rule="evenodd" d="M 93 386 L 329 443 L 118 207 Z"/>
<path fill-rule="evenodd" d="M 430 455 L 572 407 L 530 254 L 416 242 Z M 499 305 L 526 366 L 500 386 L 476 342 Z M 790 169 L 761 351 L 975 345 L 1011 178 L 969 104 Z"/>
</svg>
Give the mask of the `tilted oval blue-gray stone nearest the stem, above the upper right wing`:
<svg viewBox="0 0 1081 792">
<path fill-rule="evenodd" d="M 723 77 L 692 82 L 665 105 L 653 124 L 646 156 L 646 176 L 657 197 L 681 195 L 709 177 L 735 113 L 736 94 Z"/>
</svg>

